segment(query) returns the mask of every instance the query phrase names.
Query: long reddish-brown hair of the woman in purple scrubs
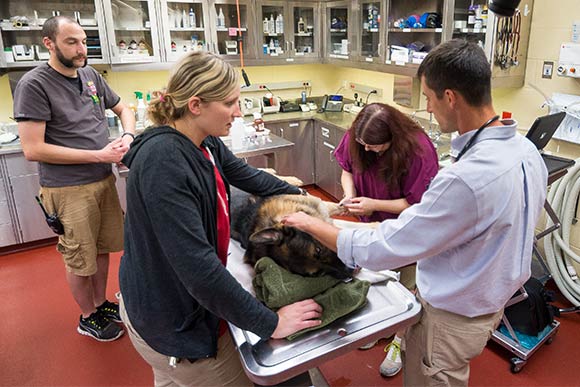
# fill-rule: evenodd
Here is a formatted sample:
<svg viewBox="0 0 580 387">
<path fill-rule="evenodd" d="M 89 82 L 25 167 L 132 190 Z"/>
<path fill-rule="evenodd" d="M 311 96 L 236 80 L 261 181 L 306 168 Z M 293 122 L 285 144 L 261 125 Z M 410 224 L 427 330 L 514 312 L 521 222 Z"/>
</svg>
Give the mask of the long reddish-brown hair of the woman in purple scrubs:
<svg viewBox="0 0 580 387">
<path fill-rule="evenodd" d="M 421 152 L 417 137 L 423 129 L 394 107 L 371 103 L 356 116 L 349 131 L 349 152 L 354 169 L 364 172 L 379 163 L 379 176 L 385 179 L 390 189 L 400 190 L 401 179 L 409 173 L 413 156 Z M 391 146 L 379 155 L 365 151 L 357 139 L 369 145 L 390 142 Z"/>
</svg>

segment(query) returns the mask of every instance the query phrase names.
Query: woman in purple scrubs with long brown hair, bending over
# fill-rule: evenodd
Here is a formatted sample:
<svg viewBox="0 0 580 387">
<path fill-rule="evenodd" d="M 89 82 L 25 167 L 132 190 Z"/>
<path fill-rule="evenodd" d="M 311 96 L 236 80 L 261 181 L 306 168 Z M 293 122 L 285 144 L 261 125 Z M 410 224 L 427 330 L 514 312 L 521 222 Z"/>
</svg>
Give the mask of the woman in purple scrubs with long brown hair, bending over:
<svg viewBox="0 0 580 387">
<path fill-rule="evenodd" d="M 334 152 L 342 168 L 340 204 L 363 222 L 397 218 L 418 203 L 439 169 L 438 157 L 423 129 L 407 115 L 383 103 L 366 105 Z M 415 265 L 400 268 L 401 283 L 415 288 Z M 397 332 L 385 348 L 380 372 L 394 376 L 402 368 Z M 370 343 L 361 349 L 371 348 Z"/>
</svg>

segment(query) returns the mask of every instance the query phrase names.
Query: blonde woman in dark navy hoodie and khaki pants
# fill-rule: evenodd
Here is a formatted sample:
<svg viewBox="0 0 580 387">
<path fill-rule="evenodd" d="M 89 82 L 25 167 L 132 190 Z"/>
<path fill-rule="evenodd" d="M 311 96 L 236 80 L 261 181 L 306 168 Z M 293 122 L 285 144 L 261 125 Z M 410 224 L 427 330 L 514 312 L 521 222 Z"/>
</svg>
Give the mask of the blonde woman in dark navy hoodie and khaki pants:
<svg viewBox="0 0 580 387">
<path fill-rule="evenodd" d="M 320 324 L 305 300 L 272 312 L 225 268 L 229 187 L 300 190 L 236 158 L 219 139 L 241 116 L 237 72 L 210 53 L 183 58 L 149 107 L 155 127 L 123 158 L 127 181 L 121 315 L 155 385 L 251 386 L 225 321 L 266 338 Z M 180 359 L 174 367 L 169 358 Z"/>
</svg>

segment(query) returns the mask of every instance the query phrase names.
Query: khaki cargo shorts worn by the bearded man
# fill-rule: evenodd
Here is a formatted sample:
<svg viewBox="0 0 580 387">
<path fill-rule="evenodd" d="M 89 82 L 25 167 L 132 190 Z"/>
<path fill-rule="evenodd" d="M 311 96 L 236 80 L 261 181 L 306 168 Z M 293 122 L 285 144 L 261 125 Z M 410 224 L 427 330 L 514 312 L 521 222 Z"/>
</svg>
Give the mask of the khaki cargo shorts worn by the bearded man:
<svg viewBox="0 0 580 387">
<path fill-rule="evenodd" d="M 68 272 L 91 276 L 98 254 L 123 250 L 123 211 L 114 175 L 84 185 L 41 187 L 40 198 L 64 226 L 56 249 Z"/>
</svg>

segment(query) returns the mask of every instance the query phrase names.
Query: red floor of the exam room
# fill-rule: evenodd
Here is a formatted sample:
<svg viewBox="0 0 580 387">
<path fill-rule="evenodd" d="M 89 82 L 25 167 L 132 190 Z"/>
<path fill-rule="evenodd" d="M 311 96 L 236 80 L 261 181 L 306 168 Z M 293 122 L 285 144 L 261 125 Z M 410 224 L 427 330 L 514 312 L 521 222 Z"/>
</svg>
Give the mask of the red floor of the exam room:
<svg viewBox="0 0 580 387">
<path fill-rule="evenodd" d="M 119 289 L 119 262 L 120 254 L 113 255 L 109 299 Z M 151 369 L 128 337 L 100 343 L 76 332 L 78 307 L 54 246 L 0 256 L 0 300 L 0 386 L 153 385 Z M 519 374 L 510 373 L 506 349 L 488 344 L 472 363 L 470 385 L 580 386 L 580 315 L 558 320 L 554 342 L 542 346 Z M 401 374 L 379 375 L 385 344 L 353 351 L 320 369 L 330 386 L 400 386 Z"/>
</svg>

